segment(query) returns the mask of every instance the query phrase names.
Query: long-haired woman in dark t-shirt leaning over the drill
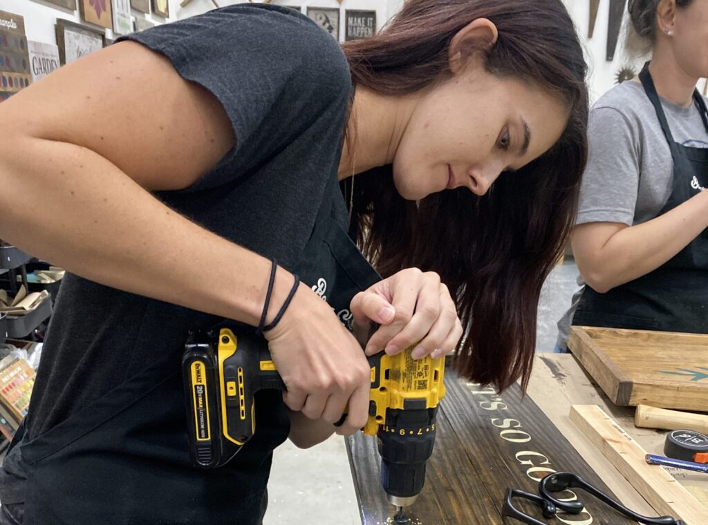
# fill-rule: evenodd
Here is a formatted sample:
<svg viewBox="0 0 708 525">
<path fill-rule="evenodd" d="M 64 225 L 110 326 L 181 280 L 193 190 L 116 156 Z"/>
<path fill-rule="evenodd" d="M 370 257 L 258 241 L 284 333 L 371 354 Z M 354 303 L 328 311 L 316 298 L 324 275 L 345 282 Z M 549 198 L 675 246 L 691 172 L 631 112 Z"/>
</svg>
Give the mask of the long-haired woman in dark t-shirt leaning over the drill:
<svg viewBox="0 0 708 525">
<path fill-rule="evenodd" d="M 527 381 L 586 158 L 585 74 L 560 0 L 410 0 L 343 49 L 292 9 L 241 4 L 3 103 L 0 236 L 72 275 L 0 522 L 260 523 L 278 444 L 325 439 L 347 405 L 338 432 L 366 421 L 349 328 L 377 323 L 368 354 L 416 358 L 467 330 L 464 376 Z M 202 471 L 181 354 L 224 320 L 258 327 L 287 393 L 258 393 L 253 439 Z"/>
</svg>

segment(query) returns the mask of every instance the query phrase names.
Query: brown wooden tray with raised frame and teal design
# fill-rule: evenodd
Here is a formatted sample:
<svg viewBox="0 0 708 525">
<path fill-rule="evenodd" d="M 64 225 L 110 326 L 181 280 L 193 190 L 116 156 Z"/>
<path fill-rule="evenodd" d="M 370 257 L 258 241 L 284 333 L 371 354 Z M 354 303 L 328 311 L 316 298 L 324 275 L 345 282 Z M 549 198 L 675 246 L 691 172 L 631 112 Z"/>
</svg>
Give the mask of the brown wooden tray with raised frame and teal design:
<svg viewBox="0 0 708 525">
<path fill-rule="evenodd" d="M 568 346 L 617 405 L 708 410 L 708 335 L 573 326 Z"/>
</svg>

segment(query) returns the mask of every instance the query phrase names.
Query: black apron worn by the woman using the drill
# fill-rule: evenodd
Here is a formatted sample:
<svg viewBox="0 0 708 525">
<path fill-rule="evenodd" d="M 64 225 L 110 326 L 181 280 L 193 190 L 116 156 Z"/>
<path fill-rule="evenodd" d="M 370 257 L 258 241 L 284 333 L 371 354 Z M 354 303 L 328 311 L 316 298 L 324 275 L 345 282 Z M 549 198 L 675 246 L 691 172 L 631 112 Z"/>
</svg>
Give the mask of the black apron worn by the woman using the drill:
<svg viewBox="0 0 708 525">
<path fill-rule="evenodd" d="M 345 227 L 346 209 L 332 178 L 304 256 L 288 270 L 350 324 L 350 300 L 380 277 Z M 256 433 L 231 462 L 195 469 L 180 362 L 156 361 L 39 437 L 22 439 L 18 432 L 11 446 L 19 443 L 28 465 L 26 492 L 23 505 L 8 508 L 23 512 L 24 524 L 261 523 L 272 451 L 290 429 L 282 393 L 256 394 Z"/>
</svg>

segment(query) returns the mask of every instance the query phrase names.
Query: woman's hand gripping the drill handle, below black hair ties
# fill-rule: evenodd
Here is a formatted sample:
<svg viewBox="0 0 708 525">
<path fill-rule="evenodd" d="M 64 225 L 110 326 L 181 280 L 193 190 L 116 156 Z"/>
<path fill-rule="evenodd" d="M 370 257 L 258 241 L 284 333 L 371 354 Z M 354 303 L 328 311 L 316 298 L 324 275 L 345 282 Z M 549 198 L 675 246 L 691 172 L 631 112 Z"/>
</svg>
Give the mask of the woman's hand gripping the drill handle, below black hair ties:
<svg viewBox="0 0 708 525">
<path fill-rule="evenodd" d="M 332 424 L 346 411 L 338 434 L 354 434 L 365 425 L 369 364 L 326 301 L 300 284 L 280 323 L 263 335 L 287 388 L 283 400 L 290 410 Z"/>
</svg>

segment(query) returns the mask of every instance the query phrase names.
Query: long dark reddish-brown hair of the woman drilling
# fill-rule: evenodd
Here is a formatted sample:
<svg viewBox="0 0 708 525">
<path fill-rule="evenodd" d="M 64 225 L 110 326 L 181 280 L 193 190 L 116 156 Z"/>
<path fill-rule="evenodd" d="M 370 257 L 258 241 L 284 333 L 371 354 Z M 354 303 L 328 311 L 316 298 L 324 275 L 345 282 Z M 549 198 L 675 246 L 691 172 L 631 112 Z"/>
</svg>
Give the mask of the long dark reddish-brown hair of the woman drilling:
<svg viewBox="0 0 708 525">
<path fill-rule="evenodd" d="M 450 78 L 450 40 L 482 17 L 499 33 L 486 69 L 564 100 L 571 116 L 561 139 L 502 173 L 483 197 L 458 188 L 410 202 L 396 192 L 391 166 L 359 174 L 350 233 L 384 277 L 404 267 L 440 274 L 466 331 L 455 367 L 501 390 L 529 379 L 541 287 L 576 216 L 588 92 L 573 22 L 561 0 L 408 0 L 379 34 L 343 49 L 358 86 L 413 93 Z"/>
</svg>

